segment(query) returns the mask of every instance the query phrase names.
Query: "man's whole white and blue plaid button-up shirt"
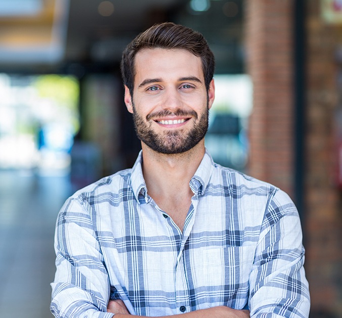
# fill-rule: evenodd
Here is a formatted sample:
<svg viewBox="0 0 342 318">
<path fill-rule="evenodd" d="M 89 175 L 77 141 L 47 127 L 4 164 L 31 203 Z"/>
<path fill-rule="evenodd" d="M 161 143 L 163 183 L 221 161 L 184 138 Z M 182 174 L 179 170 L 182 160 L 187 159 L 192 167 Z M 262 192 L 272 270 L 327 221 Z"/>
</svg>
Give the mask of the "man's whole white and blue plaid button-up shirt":
<svg viewBox="0 0 342 318">
<path fill-rule="evenodd" d="M 56 227 L 56 317 L 172 315 L 225 305 L 251 317 L 308 317 L 297 210 L 281 190 L 215 164 L 190 181 L 183 233 L 147 194 L 142 154 L 69 198 Z"/>
</svg>

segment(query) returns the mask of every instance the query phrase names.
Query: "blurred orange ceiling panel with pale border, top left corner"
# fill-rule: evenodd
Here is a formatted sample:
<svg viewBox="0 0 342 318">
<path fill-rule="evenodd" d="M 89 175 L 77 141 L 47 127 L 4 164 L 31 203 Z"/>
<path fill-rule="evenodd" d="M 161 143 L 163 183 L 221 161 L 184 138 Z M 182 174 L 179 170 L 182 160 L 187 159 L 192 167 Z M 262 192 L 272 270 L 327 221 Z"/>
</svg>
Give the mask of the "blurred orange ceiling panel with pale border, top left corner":
<svg viewBox="0 0 342 318">
<path fill-rule="evenodd" d="M 70 0 L 0 0 L 0 17 L 10 8 L 13 17 L 1 26 L 0 63 L 50 64 L 61 61 L 67 35 Z M 7 5 L 11 2 L 11 6 Z M 15 7 L 15 8 L 14 8 Z M 34 8 L 40 8 L 35 12 Z M 7 8 L 5 10 L 5 8 Z M 32 16 L 16 21 L 30 8 Z M 35 13 L 33 15 L 33 13 Z"/>
</svg>

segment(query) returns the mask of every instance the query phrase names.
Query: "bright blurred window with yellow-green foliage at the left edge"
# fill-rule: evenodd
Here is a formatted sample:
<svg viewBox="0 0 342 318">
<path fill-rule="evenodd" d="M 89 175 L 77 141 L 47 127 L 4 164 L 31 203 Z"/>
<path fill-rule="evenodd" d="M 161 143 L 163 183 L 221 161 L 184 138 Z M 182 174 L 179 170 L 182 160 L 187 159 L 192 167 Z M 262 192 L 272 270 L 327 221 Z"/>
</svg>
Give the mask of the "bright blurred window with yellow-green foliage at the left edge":
<svg viewBox="0 0 342 318">
<path fill-rule="evenodd" d="M 67 171 L 79 129 L 72 76 L 0 74 L 0 168 Z"/>
</svg>

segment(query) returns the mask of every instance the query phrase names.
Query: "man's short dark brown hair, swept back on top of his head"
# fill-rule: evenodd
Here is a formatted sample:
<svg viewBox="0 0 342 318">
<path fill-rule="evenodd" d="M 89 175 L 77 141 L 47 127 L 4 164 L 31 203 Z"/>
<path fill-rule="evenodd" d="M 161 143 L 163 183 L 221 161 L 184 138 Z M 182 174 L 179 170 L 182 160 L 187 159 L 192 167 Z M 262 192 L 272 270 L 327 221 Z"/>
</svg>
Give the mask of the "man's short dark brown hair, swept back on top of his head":
<svg viewBox="0 0 342 318">
<path fill-rule="evenodd" d="M 208 43 L 199 32 L 183 25 L 164 22 L 155 24 L 140 33 L 123 51 L 121 59 L 121 75 L 133 96 L 135 78 L 135 57 L 143 49 L 183 49 L 198 56 L 202 60 L 205 87 L 208 90 L 215 69 L 215 58 Z"/>
</svg>

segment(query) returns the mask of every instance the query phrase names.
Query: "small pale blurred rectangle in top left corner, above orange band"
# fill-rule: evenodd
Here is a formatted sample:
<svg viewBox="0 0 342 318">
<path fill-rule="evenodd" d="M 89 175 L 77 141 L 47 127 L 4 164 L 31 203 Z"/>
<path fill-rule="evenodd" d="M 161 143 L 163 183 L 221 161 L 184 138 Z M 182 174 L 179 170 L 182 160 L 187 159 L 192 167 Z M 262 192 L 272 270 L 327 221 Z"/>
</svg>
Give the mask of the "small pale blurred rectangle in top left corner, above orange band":
<svg viewBox="0 0 342 318">
<path fill-rule="evenodd" d="M 1 0 L 0 16 L 36 15 L 42 10 L 41 0 Z"/>
</svg>

